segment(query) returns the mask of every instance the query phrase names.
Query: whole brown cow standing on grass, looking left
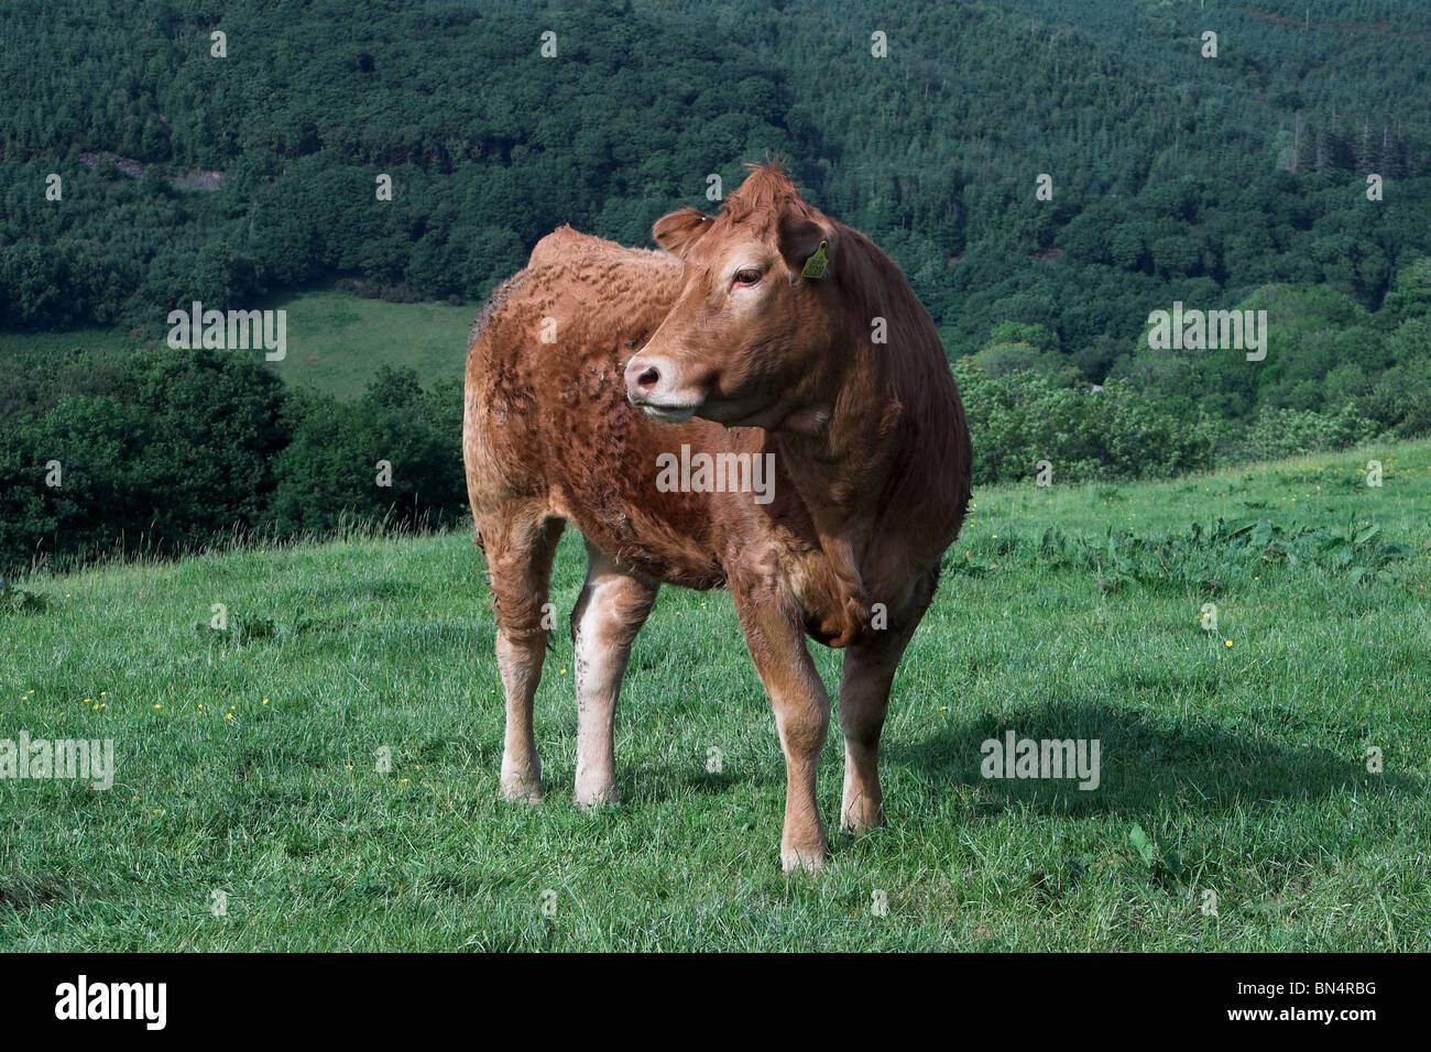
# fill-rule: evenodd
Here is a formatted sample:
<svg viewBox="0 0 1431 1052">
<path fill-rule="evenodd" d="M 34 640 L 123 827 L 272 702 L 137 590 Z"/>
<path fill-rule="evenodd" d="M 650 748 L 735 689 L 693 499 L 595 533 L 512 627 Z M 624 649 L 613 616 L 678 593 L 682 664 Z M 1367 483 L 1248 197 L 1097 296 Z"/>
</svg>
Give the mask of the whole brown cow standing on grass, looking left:
<svg viewBox="0 0 1431 1052">
<path fill-rule="evenodd" d="M 841 824 L 883 822 L 890 683 L 969 502 L 970 444 L 929 313 L 869 238 L 751 166 L 667 252 L 562 228 L 474 322 L 462 452 L 507 691 L 502 790 L 541 797 L 532 696 L 564 522 L 587 540 L 571 615 L 580 806 L 615 802 L 612 723 L 660 584 L 724 587 L 786 754 L 786 870 L 824 863 L 830 701 L 804 644 L 844 647 Z"/>
</svg>

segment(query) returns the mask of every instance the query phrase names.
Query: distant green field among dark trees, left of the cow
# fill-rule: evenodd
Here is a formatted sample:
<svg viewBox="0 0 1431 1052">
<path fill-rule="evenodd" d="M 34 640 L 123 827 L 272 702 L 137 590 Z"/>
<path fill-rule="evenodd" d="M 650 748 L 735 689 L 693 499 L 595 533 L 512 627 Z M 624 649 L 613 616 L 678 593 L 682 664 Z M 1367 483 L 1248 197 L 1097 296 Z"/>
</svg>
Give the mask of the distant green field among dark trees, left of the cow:
<svg viewBox="0 0 1431 1052">
<path fill-rule="evenodd" d="M 461 379 L 474 306 L 388 303 L 339 289 L 273 296 L 248 308 L 288 311 L 286 356 L 268 362 L 289 385 L 309 385 L 342 399 L 363 392 L 382 365 L 406 366 L 424 385 Z M 132 351 L 162 344 L 123 329 L 0 332 L 0 361 L 13 355 L 53 355 L 72 349 Z M 235 351 L 263 359 L 262 351 Z"/>
</svg>

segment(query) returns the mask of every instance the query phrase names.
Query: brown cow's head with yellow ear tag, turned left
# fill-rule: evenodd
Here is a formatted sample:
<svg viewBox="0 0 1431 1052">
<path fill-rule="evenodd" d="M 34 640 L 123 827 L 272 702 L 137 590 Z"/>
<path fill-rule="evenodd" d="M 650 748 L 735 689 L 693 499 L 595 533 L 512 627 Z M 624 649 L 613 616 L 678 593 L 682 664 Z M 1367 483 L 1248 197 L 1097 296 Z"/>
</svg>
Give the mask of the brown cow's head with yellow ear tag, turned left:
<svg viewBox="0 0 1431 1052">
<path fill-rule="evenodd" d="M 631 404 L 663 421 L 809 425 L 837 384 L 834 223 L 764 166 L 718 216 L 681 209 L 657 220 L 654 236 L 684 262 L 683 288 L 627 364 Z"/>
</svg>

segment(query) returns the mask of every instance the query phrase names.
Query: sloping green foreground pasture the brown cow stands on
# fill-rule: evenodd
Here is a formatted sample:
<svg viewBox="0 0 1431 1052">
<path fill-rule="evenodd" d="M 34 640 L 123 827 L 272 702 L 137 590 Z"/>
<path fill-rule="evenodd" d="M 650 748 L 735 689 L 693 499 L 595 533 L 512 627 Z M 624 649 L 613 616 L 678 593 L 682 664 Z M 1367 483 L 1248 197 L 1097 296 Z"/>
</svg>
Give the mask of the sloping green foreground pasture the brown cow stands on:
<svg viewBox="0 0 1431 1052">
<path fill-rule="evenodd" d="M 817 876 L 778 872 L 784 769 L 723 593 L 663 591 L 624 804 L 584 814 L 565 635 L 548 799 L 498 799 L 465 534 L 39 574 L 47 603 L 0 614 L 0 737 L 110 737 L 119 784 L 0 781 L 0 949 L 1431 949 L 1431 444 L 975 501 L 896 680 L 890 824 Z M 1269 525 L 1189 534 L 1219 517 Z M 560 608 L 580 577 L 568 531 Z M 242 628 L 200 628 L 213 603 Z M 985 780 L 1006 729 L 1099 739 L 1100 789 Z"/>
</svg>

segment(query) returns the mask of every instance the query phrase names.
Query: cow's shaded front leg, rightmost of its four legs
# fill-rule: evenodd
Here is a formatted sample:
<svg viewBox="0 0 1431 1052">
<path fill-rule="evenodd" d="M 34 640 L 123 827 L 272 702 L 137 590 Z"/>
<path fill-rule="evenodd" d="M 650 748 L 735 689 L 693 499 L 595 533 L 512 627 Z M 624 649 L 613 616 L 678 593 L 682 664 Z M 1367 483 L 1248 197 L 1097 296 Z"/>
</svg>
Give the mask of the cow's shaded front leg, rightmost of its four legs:
<svg viewBox="0 0 1431 1052">
<path fill-rule="evenodd" d="M 844 734 L 844 794 L 840 827 L 863 833 L 884 824 L 880 792 L 880 731 L 890 704 L 890 686 L 904 648 L 934 595 L 937 570 L 914 585 L 914 594 L 884 631 L 844 651 L 840 671 L 840 731 Z"/>
</svg>

